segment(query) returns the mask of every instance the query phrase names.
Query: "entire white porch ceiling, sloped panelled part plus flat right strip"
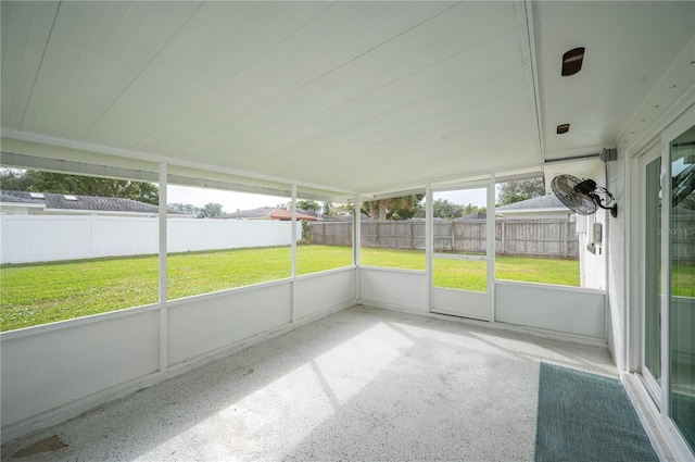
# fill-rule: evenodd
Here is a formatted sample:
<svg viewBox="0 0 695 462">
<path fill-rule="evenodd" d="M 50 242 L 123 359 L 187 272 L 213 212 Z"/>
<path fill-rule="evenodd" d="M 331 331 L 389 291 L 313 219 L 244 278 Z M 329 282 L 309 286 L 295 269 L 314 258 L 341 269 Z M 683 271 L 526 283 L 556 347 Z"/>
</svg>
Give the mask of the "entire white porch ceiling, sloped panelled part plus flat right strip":
<svg viewBox="0 0 695 462">
<path fill-rule="evenodd" d="M 366 195 L 540 171 L 616 141 L 693 7 L 3 1 L 2 151 Z"/>
</svg>

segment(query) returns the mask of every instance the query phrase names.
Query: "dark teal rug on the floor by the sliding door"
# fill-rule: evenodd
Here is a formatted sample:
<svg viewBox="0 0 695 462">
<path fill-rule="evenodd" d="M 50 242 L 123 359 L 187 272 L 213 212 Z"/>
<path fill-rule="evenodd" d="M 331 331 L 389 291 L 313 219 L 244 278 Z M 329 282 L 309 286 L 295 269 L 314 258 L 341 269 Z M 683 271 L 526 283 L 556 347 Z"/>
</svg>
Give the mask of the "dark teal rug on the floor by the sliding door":
<svg viewBox="0 0 695 462">
<path fill-rule="evenodd" d="M 541 363 L 536 462 L 658 461 L 620 380 Z"/>
</svg>

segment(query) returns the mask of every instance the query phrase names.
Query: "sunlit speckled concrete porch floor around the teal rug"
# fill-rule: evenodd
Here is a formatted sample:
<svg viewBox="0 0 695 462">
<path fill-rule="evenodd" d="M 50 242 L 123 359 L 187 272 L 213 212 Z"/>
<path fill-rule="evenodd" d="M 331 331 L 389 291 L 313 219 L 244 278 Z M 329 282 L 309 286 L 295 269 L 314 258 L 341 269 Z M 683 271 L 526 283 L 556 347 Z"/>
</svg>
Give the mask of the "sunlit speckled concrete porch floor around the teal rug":
<svg viewBox="0 0 695 462">
<path fill-rule="evenodd" d="M 604 348 L 358 307 L 11 441 L 2 460 L 529 461 L 541 361 L 617 377 Z"/>
</svg>

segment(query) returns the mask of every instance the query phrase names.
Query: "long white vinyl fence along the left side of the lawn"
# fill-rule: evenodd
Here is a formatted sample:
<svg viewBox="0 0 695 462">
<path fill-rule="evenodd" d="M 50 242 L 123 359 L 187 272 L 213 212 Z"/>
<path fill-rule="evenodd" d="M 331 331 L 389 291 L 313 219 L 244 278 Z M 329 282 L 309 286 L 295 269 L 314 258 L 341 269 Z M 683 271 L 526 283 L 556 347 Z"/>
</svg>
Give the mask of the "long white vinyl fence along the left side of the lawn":
<svg viewBox="0 0 695 462">
<path fill-rule="evenodd" d="M 296 224 L 301 236 L 301 224 Z M 289 246 L 291 222 L 167 220 L 168 252 Z M 157 252 L 157 218 L 0 215 L 0 263 L 33 263 Z"/>
</svg>

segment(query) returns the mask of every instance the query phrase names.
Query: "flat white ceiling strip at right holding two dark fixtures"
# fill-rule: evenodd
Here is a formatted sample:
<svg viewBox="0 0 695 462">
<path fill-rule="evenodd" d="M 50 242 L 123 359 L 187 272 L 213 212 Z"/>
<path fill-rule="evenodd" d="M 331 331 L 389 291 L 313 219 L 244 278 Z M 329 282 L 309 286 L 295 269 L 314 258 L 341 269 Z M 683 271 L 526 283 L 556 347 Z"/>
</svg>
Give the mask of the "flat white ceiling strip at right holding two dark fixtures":
<svg viewBox="0 0 695 462">
<path fill-rule="evenodd" d="M 615 146 L 695 33 L 693 1 L 542 1 L 533 16 L 546 160 Z M 560 57 L 577 47 L 582 70 L 563 77 Z"/>
</svg>

